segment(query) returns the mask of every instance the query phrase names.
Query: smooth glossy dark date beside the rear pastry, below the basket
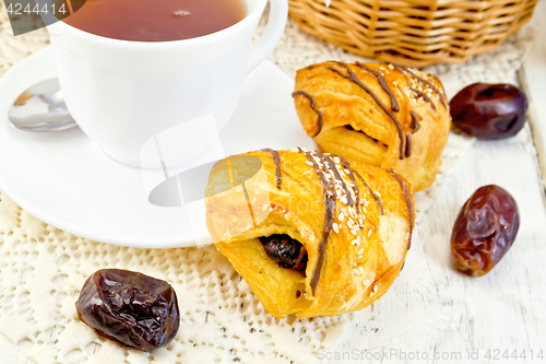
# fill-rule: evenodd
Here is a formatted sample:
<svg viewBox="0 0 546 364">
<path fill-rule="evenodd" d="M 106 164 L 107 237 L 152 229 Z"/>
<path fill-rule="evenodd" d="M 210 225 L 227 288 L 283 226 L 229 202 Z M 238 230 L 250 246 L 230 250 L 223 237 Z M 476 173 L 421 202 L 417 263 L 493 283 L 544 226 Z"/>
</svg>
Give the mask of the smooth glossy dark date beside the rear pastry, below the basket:
<svg viewBox="0 0 546 364">
<path fill-rule="evenodd" d="M 510 84 L 474 83 L 453 97 L 450 108 L 453 125 L 466 134 L 505 139 L 525 125 L 527 98 Z"/>
</svg>

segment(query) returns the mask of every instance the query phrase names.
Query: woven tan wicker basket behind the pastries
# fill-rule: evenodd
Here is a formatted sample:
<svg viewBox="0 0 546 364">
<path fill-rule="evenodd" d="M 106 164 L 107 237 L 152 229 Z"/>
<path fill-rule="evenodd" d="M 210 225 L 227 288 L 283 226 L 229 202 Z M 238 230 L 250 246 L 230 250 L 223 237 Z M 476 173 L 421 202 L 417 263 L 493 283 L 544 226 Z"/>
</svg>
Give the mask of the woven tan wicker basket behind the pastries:
<svg viewBox="0 0 546 364">
<path fill-rule="evenodd" d="M 499 46 L 537 0 L 288 0 L 299 26 L 343 49 L 404 66 L 460 63 Z"/>
</svg>

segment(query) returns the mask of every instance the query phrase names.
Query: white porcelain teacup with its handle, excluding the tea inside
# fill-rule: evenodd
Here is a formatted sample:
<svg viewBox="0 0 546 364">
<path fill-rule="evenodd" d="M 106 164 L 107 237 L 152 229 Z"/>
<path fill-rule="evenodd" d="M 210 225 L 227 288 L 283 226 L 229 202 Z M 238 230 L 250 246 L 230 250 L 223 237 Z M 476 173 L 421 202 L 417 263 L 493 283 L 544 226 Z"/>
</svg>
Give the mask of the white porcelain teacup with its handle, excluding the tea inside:
<svg viewBox="0 0 546 364">
<path fill-rule="evenodd" d="M 251 49 L 268 1 L 268 25 Z M 286 25 L 286 0 L 246 4 L 247 16 L 237 24 L 174 42 L 119 40 L 62 21 L 49 25 L 60 86 L 80 128 L 114 160 L 132 166 L 141 166 L 146 142 L 180 124 L 205 118 L 221 130 L 245 75 L 271 54 Z"/>
</svg>

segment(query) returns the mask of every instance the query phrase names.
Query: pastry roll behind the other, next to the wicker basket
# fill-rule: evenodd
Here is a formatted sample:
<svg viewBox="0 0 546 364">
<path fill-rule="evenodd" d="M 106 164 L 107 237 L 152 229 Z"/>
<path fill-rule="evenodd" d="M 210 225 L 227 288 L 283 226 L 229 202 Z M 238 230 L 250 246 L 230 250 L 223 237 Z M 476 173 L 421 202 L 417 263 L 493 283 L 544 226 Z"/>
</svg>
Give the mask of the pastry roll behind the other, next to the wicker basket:
<svg viewBox="0 0 546 364">
<path fill-rule="evenodd" d="M 407 68 L 324 62 L 300 69 L 299 120 L 320 149 L 392 168 L 419 191 L 430 186 L 451 116 L 441 82 Z"/>
</svg>

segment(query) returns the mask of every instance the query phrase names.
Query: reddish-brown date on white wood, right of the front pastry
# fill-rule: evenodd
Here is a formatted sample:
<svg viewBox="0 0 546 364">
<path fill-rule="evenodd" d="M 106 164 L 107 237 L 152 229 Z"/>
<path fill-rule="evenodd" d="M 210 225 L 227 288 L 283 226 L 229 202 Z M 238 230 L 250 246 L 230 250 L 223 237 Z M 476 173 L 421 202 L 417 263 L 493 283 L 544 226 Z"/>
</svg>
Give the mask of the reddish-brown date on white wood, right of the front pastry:
<svg viewBox="0 0 546 364">
<path fill-rule="evenodd" d="M 462 207 L 451 235 L 455 269 L 482 277 L 502 259 L 520 227 L 514 198 L 495 186 L 478 188 Z"/>
</svg>

